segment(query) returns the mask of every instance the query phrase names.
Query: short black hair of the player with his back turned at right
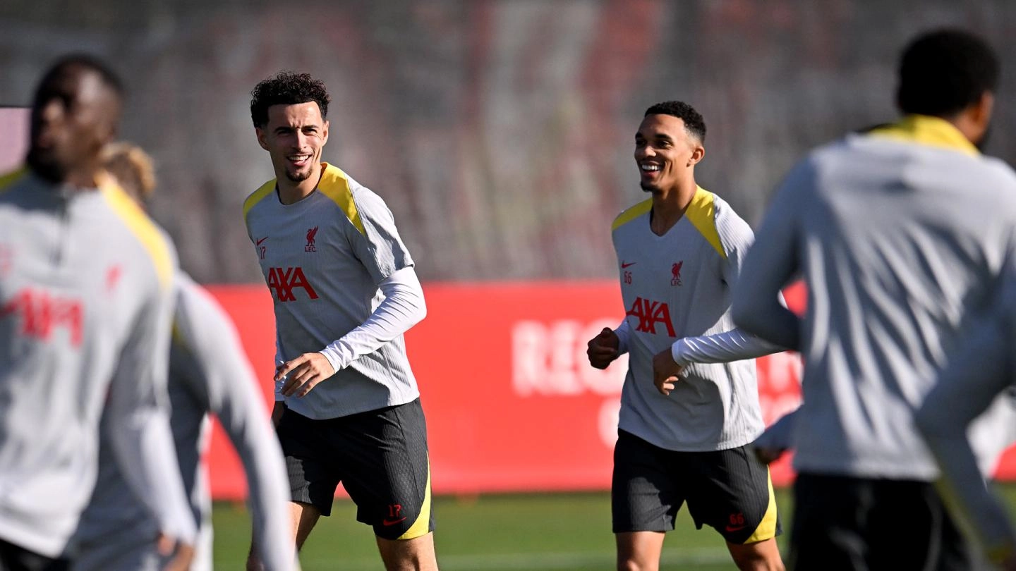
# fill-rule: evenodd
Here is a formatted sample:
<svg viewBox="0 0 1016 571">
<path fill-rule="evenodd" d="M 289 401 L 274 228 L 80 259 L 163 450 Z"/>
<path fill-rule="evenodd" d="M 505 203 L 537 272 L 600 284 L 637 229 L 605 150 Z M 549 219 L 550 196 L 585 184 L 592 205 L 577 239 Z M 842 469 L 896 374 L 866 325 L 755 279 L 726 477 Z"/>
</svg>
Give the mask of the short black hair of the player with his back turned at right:
<svg viewBox="0 0 1016 571">
<path fill-rule="evenodd" d="M 994 92 L 999 73 L 995 51 L 980 38 L 956 28 L 930 31 L 903 51 L 896 105 L 907 114 L 950 117 Z"/>
</svg>

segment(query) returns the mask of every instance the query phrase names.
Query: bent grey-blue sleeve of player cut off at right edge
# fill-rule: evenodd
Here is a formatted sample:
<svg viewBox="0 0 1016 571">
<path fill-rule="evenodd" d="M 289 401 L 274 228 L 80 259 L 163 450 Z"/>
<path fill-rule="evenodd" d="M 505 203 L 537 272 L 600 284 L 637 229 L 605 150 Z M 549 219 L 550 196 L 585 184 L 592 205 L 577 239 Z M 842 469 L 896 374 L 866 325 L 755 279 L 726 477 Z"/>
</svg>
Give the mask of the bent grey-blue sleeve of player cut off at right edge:
<svg viewBox="0 0 1016 571">
<path fill-rule="evenodd" d="M 1000 312 L 1002 313 L 1002 312 Z M 953 354 L 948 367 L 914 417 L 942 470 L 943 500 L 961 521 L 972 524 L 991 553 L 1016 550 L 1016 529 L 1002 502 L 989 490 L 968 437 L 968 427 L 1012 382 L 1013 337 L 999 318 L 980 322 Z M 971 371 L 976 371 L 971 375 Z"/>
</svg>

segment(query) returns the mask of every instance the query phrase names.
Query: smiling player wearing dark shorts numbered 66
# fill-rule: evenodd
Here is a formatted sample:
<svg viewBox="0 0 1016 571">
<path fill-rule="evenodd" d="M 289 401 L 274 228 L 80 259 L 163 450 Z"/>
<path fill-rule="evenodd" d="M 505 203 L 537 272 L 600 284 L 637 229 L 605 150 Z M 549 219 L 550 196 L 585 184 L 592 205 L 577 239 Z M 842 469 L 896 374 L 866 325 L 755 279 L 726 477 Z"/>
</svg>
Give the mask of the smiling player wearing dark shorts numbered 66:
<svg viewBox="0 0 1016 571">
<path fill-rule="evenodd" d="M 782 569 L 768 467 L 745 445 L 763 430 L 754 358 L 782 351 L 735 328 L 731 289 L 752 244 L 747 224 L 695 182 L 705 123 L 654 105 L 635 134 L 648 200 L 614 220 L 627 316 L 588 343 L 604 369 L 629 353 L 614 451 L 618 569 L 657 569 L 685 502 L 740 569 Z"/>
</svg>

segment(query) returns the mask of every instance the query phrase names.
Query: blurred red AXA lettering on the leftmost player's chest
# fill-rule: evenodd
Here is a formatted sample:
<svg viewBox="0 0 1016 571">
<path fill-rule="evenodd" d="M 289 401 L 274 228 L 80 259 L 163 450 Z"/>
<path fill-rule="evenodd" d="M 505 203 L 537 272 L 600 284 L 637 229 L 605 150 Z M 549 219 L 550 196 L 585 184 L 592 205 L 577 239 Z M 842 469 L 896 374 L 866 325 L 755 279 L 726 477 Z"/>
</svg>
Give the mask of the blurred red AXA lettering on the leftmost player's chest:
<svg viewBox="0 0 1016 571">
<path fill-rule="evenodd" d="M 49 292 L 24 288 L 0 307 L 0 316 L 18 315 L 19 334 L 50 340 L 53 331 L 64 327 L 70 332 L 70 344 L 81 345 L 84 309 L 81 300 L 51 296 Z"/>
</svg>

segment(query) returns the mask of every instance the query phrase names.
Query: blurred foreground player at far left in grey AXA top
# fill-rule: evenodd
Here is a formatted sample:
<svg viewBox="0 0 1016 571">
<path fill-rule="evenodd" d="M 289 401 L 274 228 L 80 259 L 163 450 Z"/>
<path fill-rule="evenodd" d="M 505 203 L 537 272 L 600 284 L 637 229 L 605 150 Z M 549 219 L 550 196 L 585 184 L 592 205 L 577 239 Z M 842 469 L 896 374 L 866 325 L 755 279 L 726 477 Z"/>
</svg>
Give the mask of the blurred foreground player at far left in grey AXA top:
<svg viewBox="0 0 1016 571">
<path fill-rule="evenodd" d="M 27 169 L 0 179 L 4 571 L 67 569 L 104 409 L 113 461 L 156 514 L 151 538 L 195 537 L 166 395 L 176 253 L 100 156 L 122 100 L 103 63 L 60 60 L 35 93 Z"/>
</svg>

